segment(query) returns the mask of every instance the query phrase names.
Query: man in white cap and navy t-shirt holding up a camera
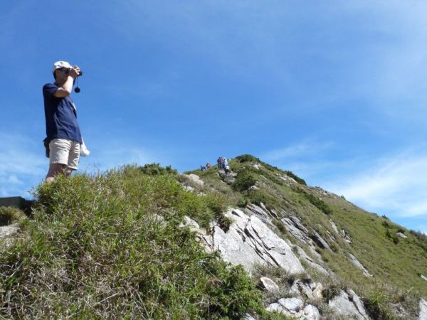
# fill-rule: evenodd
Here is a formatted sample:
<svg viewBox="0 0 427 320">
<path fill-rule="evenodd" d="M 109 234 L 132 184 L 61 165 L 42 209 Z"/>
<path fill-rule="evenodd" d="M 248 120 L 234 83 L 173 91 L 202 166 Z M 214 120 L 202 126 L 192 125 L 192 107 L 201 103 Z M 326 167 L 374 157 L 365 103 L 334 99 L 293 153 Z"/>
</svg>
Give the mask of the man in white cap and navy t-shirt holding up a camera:
<svg viewBox="0 0 427 320">
<path fill-rule="evenodd" d="M 70 97 L 75 78 L 82 74 L 80 68 L 66 61 L 57 61 L 53 64 L 52 73 L 55 82 L 43 85 L 45 142 L 49 146 L 48 183 L 54 181 L 58 174 L 70 176 L 77 170 L 80 144 L 83 144 L 75 105 Z"/>
</svg>

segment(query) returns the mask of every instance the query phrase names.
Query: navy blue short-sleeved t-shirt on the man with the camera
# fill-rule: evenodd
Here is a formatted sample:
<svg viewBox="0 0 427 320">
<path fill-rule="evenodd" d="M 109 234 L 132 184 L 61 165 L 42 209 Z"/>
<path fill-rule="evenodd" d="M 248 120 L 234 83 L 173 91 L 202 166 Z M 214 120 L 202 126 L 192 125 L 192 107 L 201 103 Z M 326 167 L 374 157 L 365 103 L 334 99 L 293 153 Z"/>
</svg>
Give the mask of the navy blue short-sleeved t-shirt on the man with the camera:
<svg viewBox="0 0 427 320">
<path fill-rule="evenodd" d="M 43 99 L 46 117 L 46 135 L 48 141 L 55 138 L 70 139 L 82 144 L 82 136 L 77 122 L 77 113 L 73 99 L 54 97 L 58 86 L 53 83 L 43 85 Z"/>
</svg>

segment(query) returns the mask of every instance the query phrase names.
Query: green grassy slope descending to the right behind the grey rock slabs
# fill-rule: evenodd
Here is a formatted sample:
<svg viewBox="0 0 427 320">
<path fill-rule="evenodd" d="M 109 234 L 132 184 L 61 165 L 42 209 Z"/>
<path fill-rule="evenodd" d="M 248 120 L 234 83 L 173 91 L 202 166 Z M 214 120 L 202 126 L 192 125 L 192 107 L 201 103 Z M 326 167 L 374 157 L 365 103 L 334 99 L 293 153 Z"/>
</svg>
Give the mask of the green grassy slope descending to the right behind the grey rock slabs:
<svg viewBox="0 0 427 320">
<path fill-rule="evenodd" d="M 338 245 L 332 245 L 334 252 L 321 249 L 317 251 L 328 267 L 337 273 L 341 285 L 354 289 L 364 297 L 367 304 L 374 304 L 377 309 L 384 308 L 376 312 L 382 312 L 386 316 L 391 314 L 386 306 L 395 302 L 400 302 L 412 314 L 416 312 L 419 297 L 427 297 L 427 282 L 420 277 L 420 274 L 427 272 L 426 238 L 416 237 L 388 219 L 357 208 L 344 198 L 325 193 L 320 188 L 310 188 L 303 183 L 283 183 L 277 174 L 285 176 L 284 171 L 253 156 L 238 156 L 229 163 L 231 169 L 238 173 L 236 183 L 243 184 L 247 189 L 256 181 L 260 190 L 236 191 L 236 188 L 219 183 L 215 167 L 209 171 L 192 172 L 201 176 L 209 186 L 221 186 L 219 190 L 226 195 L 230 204 L 262 201 L 268 208 L 278 212 L 283 209 L 297 215 L 309 230 L 316 230 L 327 240 L 328 230 L 334 235 Z M 255 163 L 261 164 L 263 168 L 255 169 Z M 248 178 L 248 174 L 251 178 Z M 292 176 L 290 173 L 288 175 Z M 239 181 L 239 176 L 246 177 L 246 185 Z M 243 201 L 242 198 L 246 200 Z M 339 230 L 347 230 L 352 239 L 351 244 L 334 233 L 330 219 Z M 398 230 L 403 231 L 408 238 L 396 237 Z M 287 238 L 291 237 L 288 235 Z M 347 259 L 349 253 L 357 257 L 374 277 L 362 275 Z"/>
</svg>

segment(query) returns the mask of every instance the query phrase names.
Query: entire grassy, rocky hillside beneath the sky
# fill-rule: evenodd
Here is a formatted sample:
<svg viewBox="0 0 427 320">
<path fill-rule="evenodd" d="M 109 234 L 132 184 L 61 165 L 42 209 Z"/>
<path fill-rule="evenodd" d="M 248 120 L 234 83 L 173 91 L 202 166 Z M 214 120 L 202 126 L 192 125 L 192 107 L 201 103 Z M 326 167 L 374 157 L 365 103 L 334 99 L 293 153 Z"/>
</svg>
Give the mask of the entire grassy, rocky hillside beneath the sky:
<svg viewBox="0 0 427 320">
<path fill-rule="evenodd" d="M 253 156 L 229 164 L 38 186 L 33 216 L 0 239 L 0 318 L 349 319 L 335 306 L 346 296 L 359 319 L 423 319 L 425 235 Z"/>
</svg>

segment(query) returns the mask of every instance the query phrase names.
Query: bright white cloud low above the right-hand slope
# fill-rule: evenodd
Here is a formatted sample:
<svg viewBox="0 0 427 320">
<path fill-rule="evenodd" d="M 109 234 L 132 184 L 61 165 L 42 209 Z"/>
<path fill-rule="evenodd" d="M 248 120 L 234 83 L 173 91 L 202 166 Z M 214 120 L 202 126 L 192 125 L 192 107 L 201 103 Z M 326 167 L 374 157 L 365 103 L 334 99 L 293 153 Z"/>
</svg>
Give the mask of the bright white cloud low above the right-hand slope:
<svg viewBox="0 0 427 320">
<path fill-rule="evenodd" d="M 327 183 L 327 189 L 368 210 L 427 216 L 427 154 L 420 150 L 380 159 L 374 166 L 340 178 L 341 182 Z"/>
</svg>

